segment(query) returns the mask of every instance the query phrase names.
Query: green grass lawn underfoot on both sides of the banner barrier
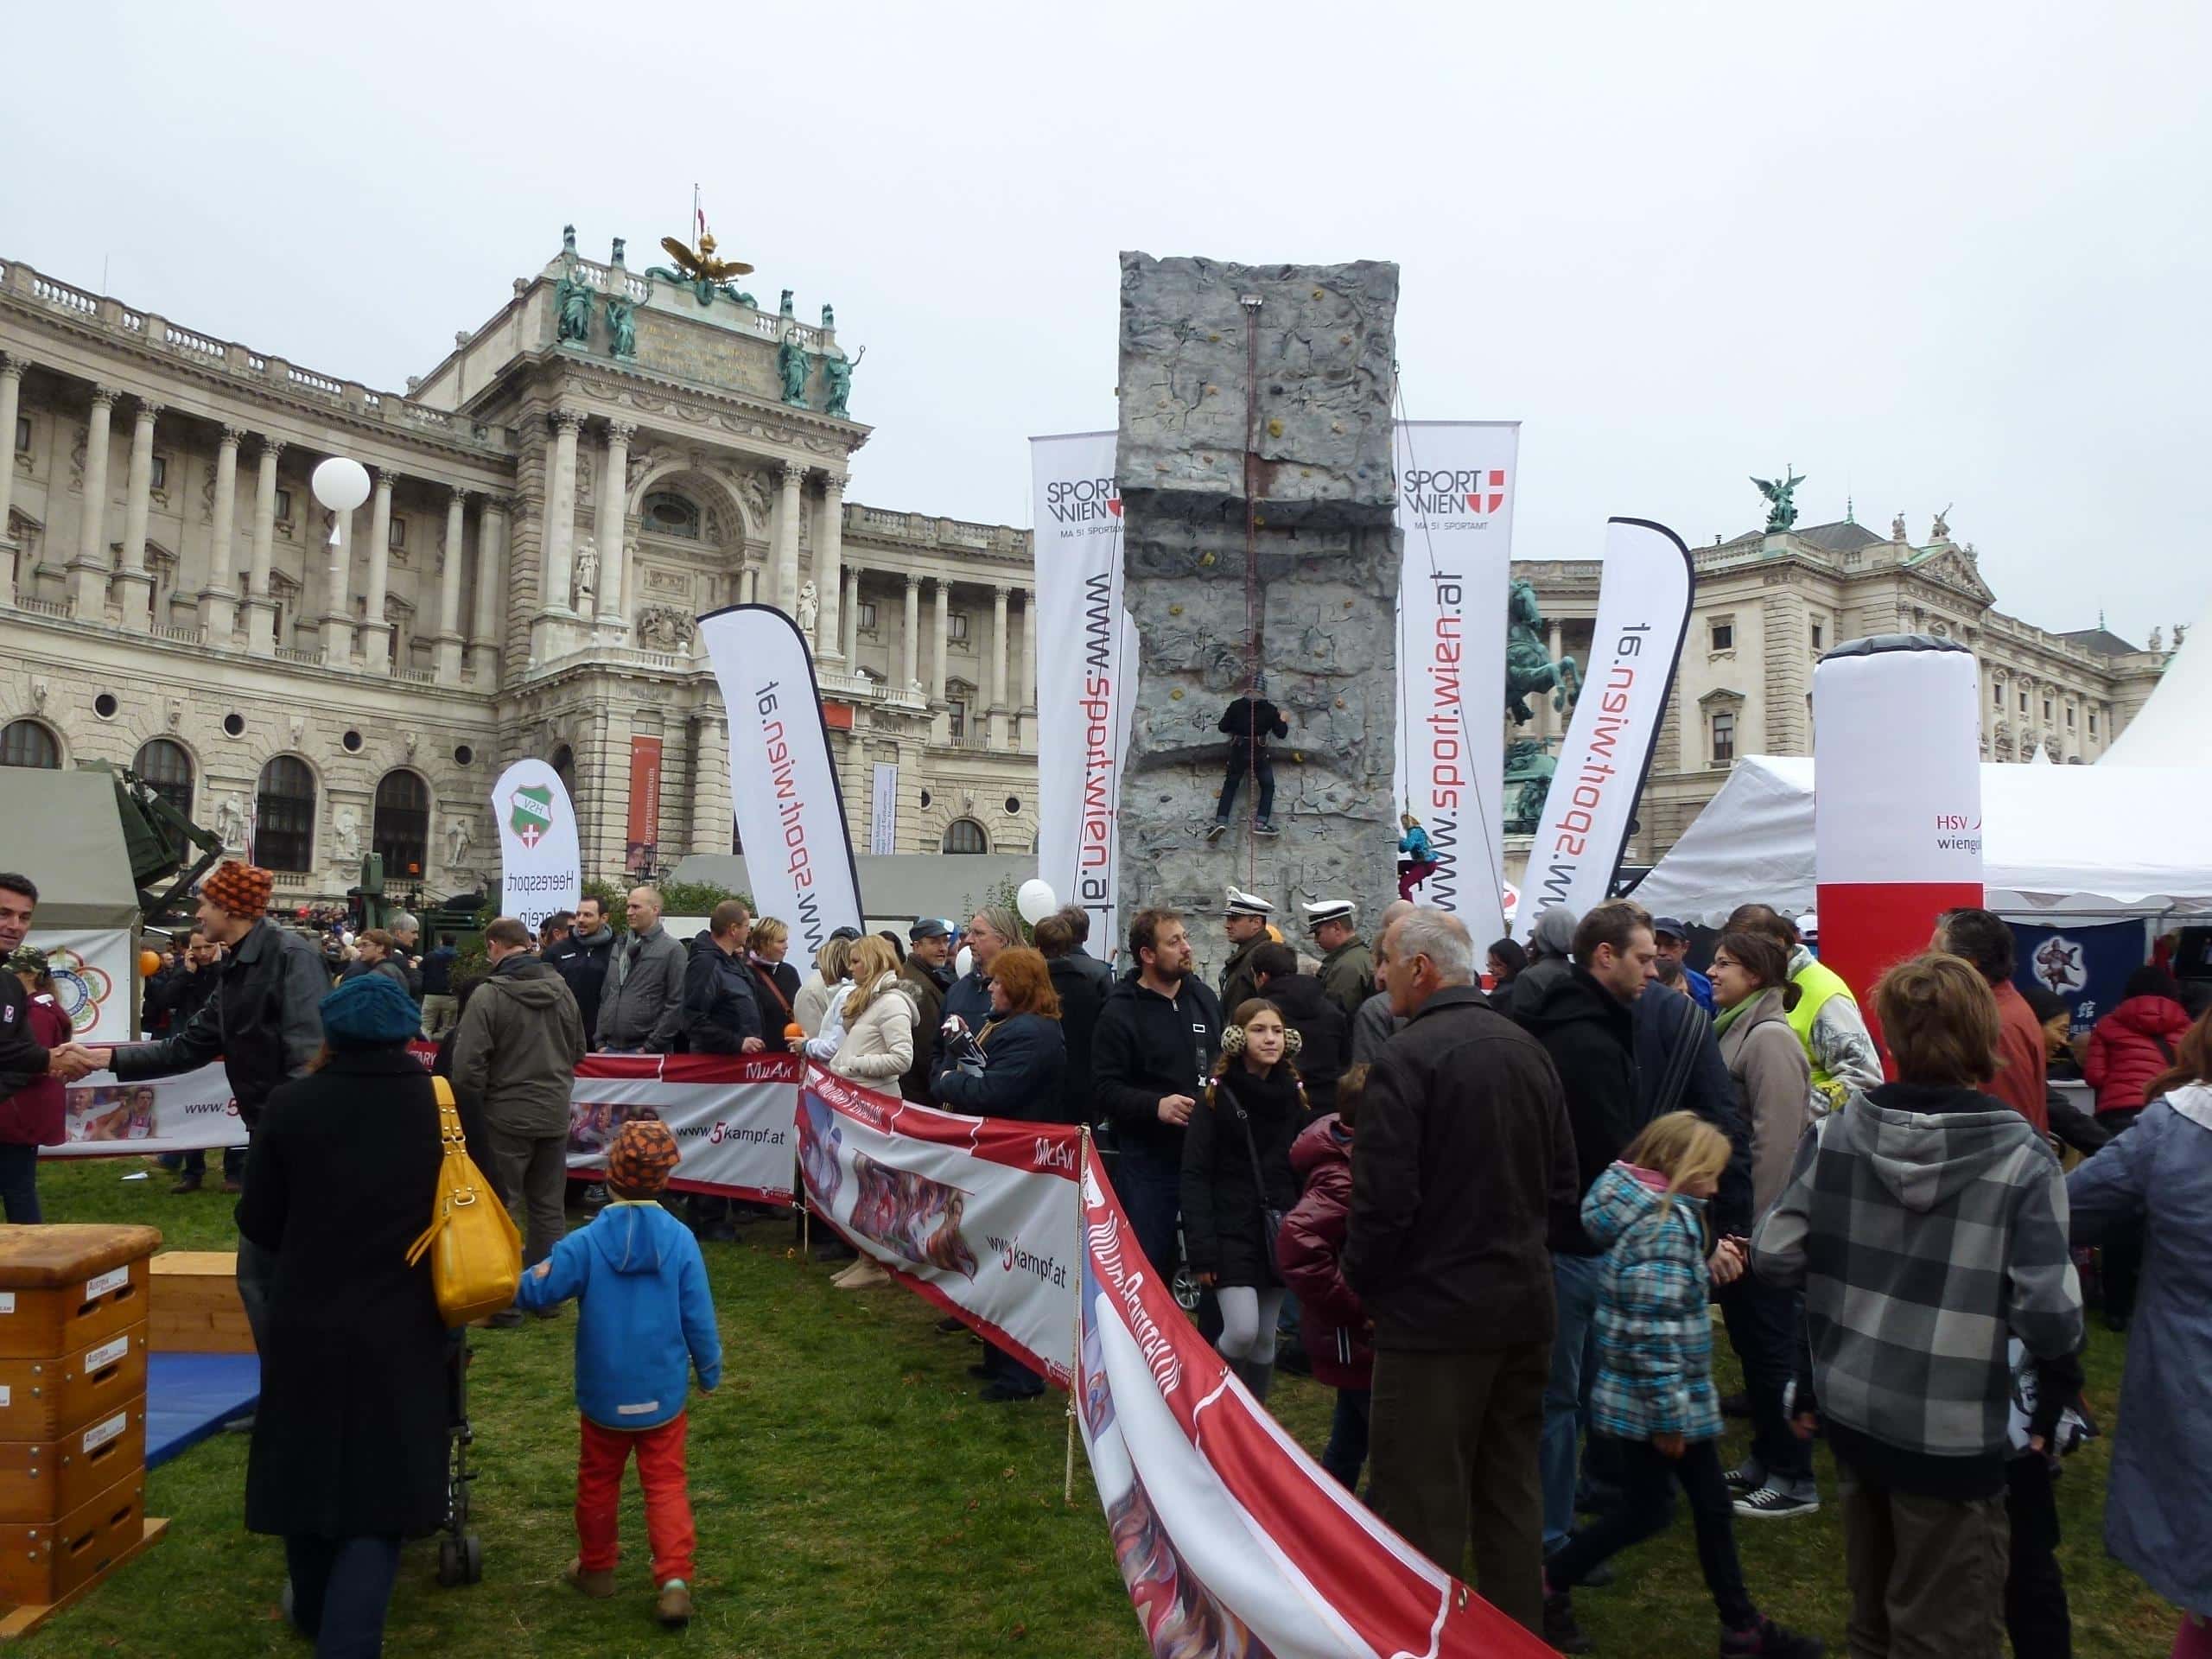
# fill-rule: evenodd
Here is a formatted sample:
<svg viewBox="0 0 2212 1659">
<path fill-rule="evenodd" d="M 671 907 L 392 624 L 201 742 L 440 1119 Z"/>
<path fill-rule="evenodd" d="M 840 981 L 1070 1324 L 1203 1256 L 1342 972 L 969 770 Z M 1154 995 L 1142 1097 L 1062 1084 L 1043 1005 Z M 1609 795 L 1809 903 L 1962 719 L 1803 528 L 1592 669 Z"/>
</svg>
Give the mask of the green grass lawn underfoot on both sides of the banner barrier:
<svg viewBox="0 0 2212 1659">
<path fill-rule="evenodd" d="M 232 1248 L 230 1201 L 168 1194 L 168 1179 L 119 1177 L 131 1159 L 46 1164 L 53 1221 L 144 1221 L 173 1250 Z M 409 1546 L 387 1628 L 392 1655 L 646 1655 L 688 1648 L 732 1659 L 854 1655 L 967 1659 L 1144 1659 L 1077 1449 L 1075 1502 L 1062 1502 L 1062 1396 L 982 1405 L 967 1378 L 980 1349 L 938 1336 L 936 1312 L 900 1290 L 838 1292 L 801 1263 L 792 1230 L 757 1223 L 706 1248 L 721 1314 L 723 1387 L 692 1402 L 690 1491 L 699 1517 L 699 1617 L 684 1635 L 650 1619 L 644 1515 L 624 1504 L 624 1593 L 586 1601 L 560 1584 L 575 1551 L 573 1325 L 476 1332 L 471 1418 L 476 1526 L 484 1582 L 442 1590 L 431 1544 Z M 1725 1358 L 1725 1343 L 1719 1343 Z M 2097 1332 L 2088 1400 L 2110 1429 L 2119 1338 Z M 1732 1378 L 1728 1378 L 1732 1385 Z M 1276 1416 L 1318 1451 L 1332 1396 L 1298 1378 Z M 1730 1425 L 1732 1449 L 1743 1440 Z M 2081 1659 L 2163 1655 L 2166 1604 L 2101 1546 L 2110 1442 L 2068 1460 L 2059 1484 L 2064 1564 Z M 204 1442 L 148 1482 L 146 1513 L 168 1540 L 51 1621 L 20 1652 L 53 1659 L 296 1655 L 279 1613 L 283 1557 L 241 1524 L 246 1436 Z M 1843 1650 L 1843 1533 L 1829 1506 L 1794 1522 L 1739 1526 L 1752 1595 L 1774 1617 Z M 1575 1597 L 1606 1655 L 1710 1655 L 1714 1617 L 1688 1517 L 1619 1557 L 1619 1582 Z"/>
</svg>

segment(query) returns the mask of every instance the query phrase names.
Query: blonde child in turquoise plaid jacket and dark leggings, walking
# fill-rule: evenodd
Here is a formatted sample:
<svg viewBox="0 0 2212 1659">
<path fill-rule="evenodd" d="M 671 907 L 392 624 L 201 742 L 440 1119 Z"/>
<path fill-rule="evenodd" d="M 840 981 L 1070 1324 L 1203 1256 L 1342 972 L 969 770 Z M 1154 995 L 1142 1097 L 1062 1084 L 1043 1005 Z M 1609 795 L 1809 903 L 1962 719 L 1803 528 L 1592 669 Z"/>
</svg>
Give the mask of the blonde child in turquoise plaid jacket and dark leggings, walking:
<svg viewBox="0 0 2212 1659">
<path fill-rule="evenodd" d="M 1608 1555 L 1666 1531 L 1681 1484 L 1697 1526 L 1697 1562 L 1721 1615 L 1723 1659 L 1812 1659 L 1823 1650 L 1814 1637 L 1759 1613 L 1736 1559 L 1708 1303 L 1712 1279 L 1743 1274 L 1743 1250 L 1734 1241 L 1714 1250 L 1705 1237 L 1705 1199 L 1719 1190 L 1730 1150 L 1728 1137 L 1697 1113 L 1668 1113 L 1582 1199 L 1584 1230 L 1606 1245 L 1590 1433 L 1615 1442 L 1626 1502 L 1544 1562 L 1544 1628 L 1555 1646 L 1564 1646 L 1557 1632 L 1573 1628 L 1568 1590 Z"/>
</svg>

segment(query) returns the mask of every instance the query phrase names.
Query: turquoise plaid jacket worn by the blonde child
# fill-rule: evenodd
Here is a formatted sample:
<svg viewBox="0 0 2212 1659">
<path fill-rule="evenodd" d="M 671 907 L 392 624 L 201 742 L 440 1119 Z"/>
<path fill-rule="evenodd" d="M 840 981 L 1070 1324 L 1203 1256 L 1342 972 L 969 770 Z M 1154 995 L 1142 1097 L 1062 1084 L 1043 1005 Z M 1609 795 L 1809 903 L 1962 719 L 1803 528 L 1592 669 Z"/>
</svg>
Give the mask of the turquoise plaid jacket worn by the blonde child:
<svg viewBox="0 0 2212 1659">
<path fill-rule="evenodd" d="M 1593 1427 L 1619 1440 L 1719 1438 L 1705 1201 L 1679 1192 L 1668 1201 L 1663 1177 L 1615 1164 L 1590 1183 L 1582 1228 L 1606 1245 Z"/>
</svg>

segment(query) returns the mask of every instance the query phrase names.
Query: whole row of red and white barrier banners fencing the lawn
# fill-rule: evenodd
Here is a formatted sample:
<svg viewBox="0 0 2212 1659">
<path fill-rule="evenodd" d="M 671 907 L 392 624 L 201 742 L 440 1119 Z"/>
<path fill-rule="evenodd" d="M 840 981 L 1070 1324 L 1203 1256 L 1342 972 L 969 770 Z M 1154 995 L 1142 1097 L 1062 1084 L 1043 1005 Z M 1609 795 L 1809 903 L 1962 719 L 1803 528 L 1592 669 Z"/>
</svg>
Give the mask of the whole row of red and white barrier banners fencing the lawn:
<svg viewBox="0 0 2212 1659">
<path fill-rule="evenodd" d="M 960 1117 L 794 1055 L 591 1055 L 573 1175 L 659 1117 L 677 1190 L 814 1212 L 936 1307 L 1068 1389 L 1115 1564 L 1155 1655 L 1515 1659 L 1535 1637 L 1422 1559 L 1237 1383 L 1137 1250 L 1086 1133 Z M 55 1157 L 237 1146 L 221 1066 L 69 1088 Z"/>
</svg>

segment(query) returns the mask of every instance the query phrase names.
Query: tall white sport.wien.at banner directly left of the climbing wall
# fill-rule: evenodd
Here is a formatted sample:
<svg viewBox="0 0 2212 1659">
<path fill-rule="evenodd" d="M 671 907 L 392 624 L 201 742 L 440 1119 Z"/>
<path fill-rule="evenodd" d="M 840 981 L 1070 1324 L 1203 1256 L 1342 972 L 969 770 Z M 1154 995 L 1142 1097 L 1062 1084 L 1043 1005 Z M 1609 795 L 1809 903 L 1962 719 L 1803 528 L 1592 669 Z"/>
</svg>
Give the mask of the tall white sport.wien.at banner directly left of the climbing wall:
<svg viewBox="0 0 2212 1659">
<path fill-rule="evenodd" d="M 1037 566 L 1037 876 L 1091 916 L 1088 949 L 1115 953 L 1121 898 L 1121 759 L 1137 712 L 1137 624 L 1121 608 L 1115 434 L 1031 438 Z"/>
</svg>

